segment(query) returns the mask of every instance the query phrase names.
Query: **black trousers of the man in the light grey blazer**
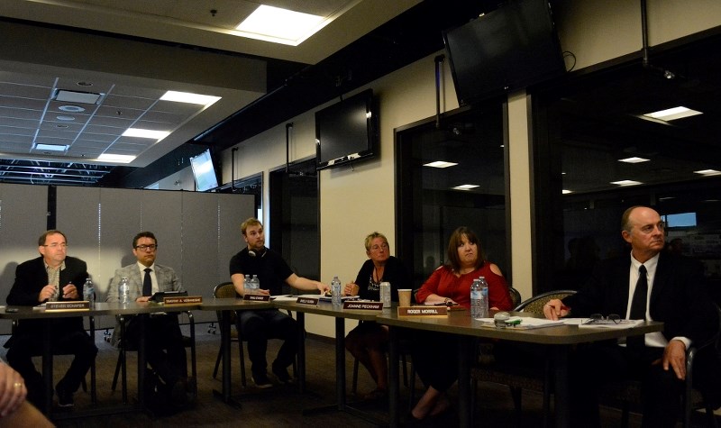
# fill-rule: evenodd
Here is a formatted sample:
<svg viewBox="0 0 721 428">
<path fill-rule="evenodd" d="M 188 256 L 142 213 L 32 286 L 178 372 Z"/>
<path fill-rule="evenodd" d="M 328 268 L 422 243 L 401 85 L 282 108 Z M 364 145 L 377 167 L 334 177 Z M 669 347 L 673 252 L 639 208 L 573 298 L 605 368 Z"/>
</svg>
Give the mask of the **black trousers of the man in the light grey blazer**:
<svg viewBox="0 0 721 428">
<path fill-rule="evenodd" d="M 125 341 L 138 349 L 140 321 L 133 317 L 125 327 Z M 187 380 L 186 347 L 178 314 L 160 314 L 145 320 L 145 359 L 166 385 Z"/>
</svg>

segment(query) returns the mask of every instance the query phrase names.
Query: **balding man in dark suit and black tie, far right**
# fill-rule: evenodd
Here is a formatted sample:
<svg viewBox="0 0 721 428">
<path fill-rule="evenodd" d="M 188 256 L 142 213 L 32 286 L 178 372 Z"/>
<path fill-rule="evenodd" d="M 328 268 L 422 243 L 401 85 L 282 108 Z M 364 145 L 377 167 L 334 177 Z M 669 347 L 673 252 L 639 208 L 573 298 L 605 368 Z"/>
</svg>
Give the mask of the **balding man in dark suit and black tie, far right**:
<svg viewBox="0 0 721 428">
<path fill-rule="evenodd" d="M 716 308 L 707 296 L 700 263 L 663 251 L 664 224 L 656 211 L 633 206 L 625 211 L 621 228 L 631 253 L 600 262 L 578 294 L 551 300 L 543 313 L 550 319 L 619 314 L 661 321 L 663 332 L 628 338 L 623 345 L 614 341 L 580 347 L 570 361 L 571 423 L 598 426 L 598 386 L 609 379 L 638 378 L 643 426 L 673 426 L 686 377 L 686 350 L 713 337 Z"/>
</svg>

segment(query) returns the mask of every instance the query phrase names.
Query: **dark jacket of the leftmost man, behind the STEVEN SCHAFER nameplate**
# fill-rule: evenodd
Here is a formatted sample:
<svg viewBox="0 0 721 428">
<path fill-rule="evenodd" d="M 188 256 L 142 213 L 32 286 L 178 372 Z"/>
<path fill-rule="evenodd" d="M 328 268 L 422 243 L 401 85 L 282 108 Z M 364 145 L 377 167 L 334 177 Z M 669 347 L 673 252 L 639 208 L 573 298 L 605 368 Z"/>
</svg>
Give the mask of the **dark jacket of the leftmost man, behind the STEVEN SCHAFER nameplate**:
<svg viewBox="0 0 721 428">
<path fill-rule="evenodd" d="M 60 270 L 59 287 L 65 287 L 68 283 L 75 284 L 78 288 L 78 298 L 68 299 L 62 296 L 58 297 L 59 300 L 79 300 L 83 296 L 83 285 L 85 280 L 88 278 L 87 264 L 85 261 L 76 259 L 74 257 L 65 258 L 65 269 Z M 10 294 L 7 296 L 8 305 L 16 306 L 35 306 L 40 305 L 38 301 L 40 292 L 43 287 L 48 285 L 48 272 L 45 270 L 45 263 L 42 257 L 25 261 L 18 265 L 15 269 L 15 282 L 13 287 L 10 289 Z M 19 334 L 37 334 L 40 340 L 43 322 L 41 320 L 20 320 L 17 328 L 13 332 L 13 336 Z M 71 318 L 59 318 L 54 320 L 50 324 L 53 332 L 71 332 L 71 331 L 84 331 L 83 318 L 82 317 L 71 317 Z M 12 344 L 13 338 L 5 343 L 5 348 L 9 348 Z"/>
</svg>

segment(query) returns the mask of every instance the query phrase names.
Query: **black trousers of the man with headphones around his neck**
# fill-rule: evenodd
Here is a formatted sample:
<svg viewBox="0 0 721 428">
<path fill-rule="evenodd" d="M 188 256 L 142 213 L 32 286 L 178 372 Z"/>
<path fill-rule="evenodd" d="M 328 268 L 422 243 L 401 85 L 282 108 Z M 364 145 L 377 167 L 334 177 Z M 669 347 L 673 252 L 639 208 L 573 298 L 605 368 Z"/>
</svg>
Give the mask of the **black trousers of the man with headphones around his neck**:
<svg viewBox="0 0 721 428">
<path fill-rule="evenodd" d="M 273 366 L 286 369 L 293 364 L 297 352 L 297 321 L 277 309 L 239 311 L 242 339 L 248 341 L 248 357 L 254 377 L 266 376 L 269 339 L 282 339 L 283 344 Z"/>
</svg>

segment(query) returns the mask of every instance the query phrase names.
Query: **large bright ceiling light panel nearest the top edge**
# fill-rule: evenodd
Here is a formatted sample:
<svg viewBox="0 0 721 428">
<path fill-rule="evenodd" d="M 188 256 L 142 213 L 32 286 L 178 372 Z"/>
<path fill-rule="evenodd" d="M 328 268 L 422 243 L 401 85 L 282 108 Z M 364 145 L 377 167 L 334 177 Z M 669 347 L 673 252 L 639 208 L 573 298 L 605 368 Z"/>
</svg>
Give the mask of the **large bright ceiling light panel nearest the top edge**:
<svg viewBox="0 0 721 428">
<path fill-rule="evenodd" d="M 297 46 L 326 23 L 323 16 L 260 5 L 236 29 L 251 39 Z"/>
</svg>

